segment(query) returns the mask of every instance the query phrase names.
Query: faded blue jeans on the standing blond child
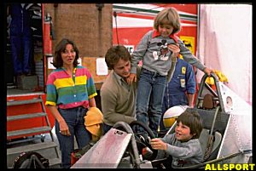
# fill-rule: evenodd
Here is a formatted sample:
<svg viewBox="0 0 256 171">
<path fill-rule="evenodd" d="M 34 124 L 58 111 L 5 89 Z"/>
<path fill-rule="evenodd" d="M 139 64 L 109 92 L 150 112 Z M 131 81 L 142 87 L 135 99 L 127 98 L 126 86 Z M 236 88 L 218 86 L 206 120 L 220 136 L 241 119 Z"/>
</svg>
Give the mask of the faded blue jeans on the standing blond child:
<svg viewBox="0 0 256 171">
<path fill-rule="evenodd" d="M 166 76 L 143 69 L 137 88 L 137 121 L 145 123 L 157 137 L 162 114 L 162 101 L 166 89 Z M 138 129 L 138 133 L 144 133 Z"/>
</svg>

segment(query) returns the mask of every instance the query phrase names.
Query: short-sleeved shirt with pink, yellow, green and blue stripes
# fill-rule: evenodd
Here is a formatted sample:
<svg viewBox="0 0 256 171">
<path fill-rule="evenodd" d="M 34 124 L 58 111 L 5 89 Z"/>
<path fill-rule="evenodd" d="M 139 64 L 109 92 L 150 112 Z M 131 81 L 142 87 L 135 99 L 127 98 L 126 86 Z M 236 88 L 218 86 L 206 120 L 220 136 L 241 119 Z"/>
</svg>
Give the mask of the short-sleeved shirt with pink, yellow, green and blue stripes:
<svg viewBox="0 0 256 171">
<path fill-rule="evenodd" d="M 58 105 L 61 109 L 89 107 L 89 99 L 97 95 L 90 72 L 84 66 L 77 66 L 70 77 L 64 68 L 52 71 L 46 84 L 45 105 Z"/>
</svg>

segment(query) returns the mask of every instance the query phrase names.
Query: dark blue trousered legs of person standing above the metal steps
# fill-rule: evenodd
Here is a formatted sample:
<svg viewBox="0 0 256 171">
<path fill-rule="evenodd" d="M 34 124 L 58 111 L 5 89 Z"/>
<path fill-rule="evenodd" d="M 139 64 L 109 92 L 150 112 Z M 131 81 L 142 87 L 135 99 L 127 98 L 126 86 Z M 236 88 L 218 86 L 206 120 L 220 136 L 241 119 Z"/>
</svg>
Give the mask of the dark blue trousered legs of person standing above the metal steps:
<svg viewBox="0 0 256 171">
<path fill-rule="evenodd" d="M 15 77 L 31 74 L 32 30 L 29 8 L 32 3 L 12 3 L 8 7 L 11 16 L 9 26 Z"/>
</svg>

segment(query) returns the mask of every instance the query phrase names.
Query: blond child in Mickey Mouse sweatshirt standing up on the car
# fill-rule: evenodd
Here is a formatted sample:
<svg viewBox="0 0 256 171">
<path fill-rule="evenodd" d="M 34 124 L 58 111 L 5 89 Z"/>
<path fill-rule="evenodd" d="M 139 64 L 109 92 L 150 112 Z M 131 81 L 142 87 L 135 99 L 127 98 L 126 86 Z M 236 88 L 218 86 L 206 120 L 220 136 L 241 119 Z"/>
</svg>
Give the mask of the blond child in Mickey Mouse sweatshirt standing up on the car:
<svg viewBox="0 0 256 171">
<path fill-rule="evenodd" d="M 137 89 L 137 121 L 147 124 L 156 137 L 166 84 L 172 76 L 172 57 L 182 54 L 184 60 L 208 75 L 212 71 L 201 64 L 175 35 L 180 29 L 177 10 L 163 9 L 154 19 L 154 31 L 148 31 L 143 36 L 131 58 L 131 74 L 127 79 L 130 84 L 137 82 L 137 64 L 143 60 Z M 144 133 L 143 130 L 138 132 Z"/>
</svg>

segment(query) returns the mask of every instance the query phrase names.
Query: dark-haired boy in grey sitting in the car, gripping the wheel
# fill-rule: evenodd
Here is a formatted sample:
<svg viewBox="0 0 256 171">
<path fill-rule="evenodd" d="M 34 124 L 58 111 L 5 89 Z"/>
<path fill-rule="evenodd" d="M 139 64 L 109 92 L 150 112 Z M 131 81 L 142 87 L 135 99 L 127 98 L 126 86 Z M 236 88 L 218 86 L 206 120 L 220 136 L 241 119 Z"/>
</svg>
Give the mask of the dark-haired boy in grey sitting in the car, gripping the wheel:
<svg viewBox="0 0 256 171">
<path fill-rule="evenodd" d="M 166 134 L 162 139 L 152 139 L 150 145 L 159 150 L 161 158 L 166 152 L 172 156 L 172 168 L 181 168 L 203 161 L 201 145 L 198 140 L 202 130 L 201 118 L 195 109 L 187 108 L 177 117 L 175 133 Z"/>
</svg>

